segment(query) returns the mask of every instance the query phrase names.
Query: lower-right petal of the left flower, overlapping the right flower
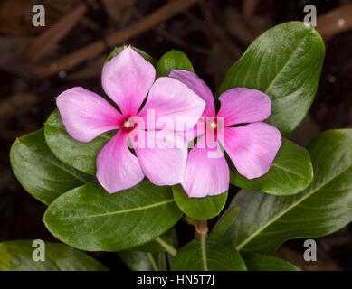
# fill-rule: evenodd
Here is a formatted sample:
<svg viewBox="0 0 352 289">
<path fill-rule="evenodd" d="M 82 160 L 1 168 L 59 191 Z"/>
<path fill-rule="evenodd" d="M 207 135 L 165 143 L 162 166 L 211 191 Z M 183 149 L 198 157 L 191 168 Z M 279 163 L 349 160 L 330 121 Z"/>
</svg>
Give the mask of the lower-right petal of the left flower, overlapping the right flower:
<svg viewBox="0 0 352 289">
<path fill-rule="evenodd" d="M 187 158 L 184 138 L 170 131 L 147 131 L 146 138 L 149 145 L 135 147 L 135 152 L 150 182 L 159 186 L 182 182 Z"/>
</svg>

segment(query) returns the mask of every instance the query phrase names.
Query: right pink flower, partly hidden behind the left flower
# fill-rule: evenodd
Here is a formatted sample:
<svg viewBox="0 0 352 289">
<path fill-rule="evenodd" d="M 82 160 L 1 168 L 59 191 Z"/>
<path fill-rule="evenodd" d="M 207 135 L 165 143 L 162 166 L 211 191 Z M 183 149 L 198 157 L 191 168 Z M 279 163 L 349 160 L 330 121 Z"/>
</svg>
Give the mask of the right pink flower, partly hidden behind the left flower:
<svg viewBox="0 0 352 289">
<path fill-rule="evenodd" d="M 173 70 L 169 76 L 185 83 L 206 102 L 202 116 L 206 125 L 198 122 L 195 127 L 195 135 L 203 136 L 188 154 L 182 182 L 190 197 L 201 198 L 228 190 L 230 172 L 224 154 L 212 157 L 215 151 L 221 151 L 220 144 L 237 171 L 247 179 L 269 171 L 281 146 L 281 134 L 276 127 L 262 122 L 271 115 L 271 99 L 267 95 L 255 89 L 226 90 L 219 97 L 221 107 L 216 115 L 213 94 L 195 73 Z M 240 124 L 245 125 L 234 126 Z M 214 135 L 214 147 L 207 135 Z"/>
</svg>

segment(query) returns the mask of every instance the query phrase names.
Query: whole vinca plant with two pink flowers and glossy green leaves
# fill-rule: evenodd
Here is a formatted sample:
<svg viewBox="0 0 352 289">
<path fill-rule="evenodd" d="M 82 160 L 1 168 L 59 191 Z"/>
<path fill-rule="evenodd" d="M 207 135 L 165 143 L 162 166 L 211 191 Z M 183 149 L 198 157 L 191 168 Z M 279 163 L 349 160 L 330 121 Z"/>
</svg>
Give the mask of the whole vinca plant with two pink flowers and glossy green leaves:
<svg viewBox="0 0 352 289">
<path fill-rule="evenodd" d="M 307 147 L 285 137 L 309 111 L 324 55 L 314 27 L 283 23 L 212 92 L 181 51 L 155 61 L 115 48 L 105 95 L 62 91 L 43 128 L 14 142 L 14 174 L 61 243 L 45 242 L 45 262 L 30 240 L 0 243 L 0 269 L 106 270 L 84 252 L 105 251 L 131 270 L 300 270 L 273 256 L 286 240 L 352 221 L 352 130 Z"/>
</svg>

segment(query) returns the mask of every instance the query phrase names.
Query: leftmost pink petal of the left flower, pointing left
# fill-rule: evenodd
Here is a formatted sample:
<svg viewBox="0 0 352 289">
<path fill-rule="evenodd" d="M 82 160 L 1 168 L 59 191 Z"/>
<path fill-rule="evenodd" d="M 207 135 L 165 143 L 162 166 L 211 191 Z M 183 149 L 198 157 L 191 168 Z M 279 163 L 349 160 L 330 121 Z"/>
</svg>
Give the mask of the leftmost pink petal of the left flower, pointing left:
<svg viewBox="0 0 352 289">
<path fill-rule="evenodd" d="M 74 139 L 87 143 L 119 128 L 123 117 L 108 101 L 83 88 L 72 88 L 56 98 L 63 125 Z"/>
</svg>

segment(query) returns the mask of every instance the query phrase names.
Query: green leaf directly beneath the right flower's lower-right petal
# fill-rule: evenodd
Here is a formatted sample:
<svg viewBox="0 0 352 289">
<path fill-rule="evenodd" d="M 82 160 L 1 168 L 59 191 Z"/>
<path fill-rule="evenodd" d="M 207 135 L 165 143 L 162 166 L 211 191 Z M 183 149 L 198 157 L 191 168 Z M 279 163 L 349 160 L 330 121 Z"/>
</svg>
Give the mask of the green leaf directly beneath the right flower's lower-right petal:
<svg viewBox="0 0 352 289">
<path fill-rule="evenodd" d="M 261 178 L 248 180 L 234 168 L 230 174 L 230 182 L 237 187 L 273 195 L 298 193 L 307 188 L 312 180 L 313 167 L 308 151 L 284 138 L 271 169 Z"/>
</svg>

